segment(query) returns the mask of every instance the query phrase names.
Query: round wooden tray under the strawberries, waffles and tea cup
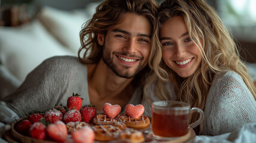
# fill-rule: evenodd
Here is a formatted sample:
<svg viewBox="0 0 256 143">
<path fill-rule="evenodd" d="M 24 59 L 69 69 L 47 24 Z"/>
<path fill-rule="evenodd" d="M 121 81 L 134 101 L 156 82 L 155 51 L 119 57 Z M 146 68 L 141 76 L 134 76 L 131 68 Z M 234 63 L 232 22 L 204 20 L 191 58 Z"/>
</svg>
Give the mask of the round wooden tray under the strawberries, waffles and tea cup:
<svg viewBox="0 0 256 143">
<path fill-rule="evenodd" d="M 24 119 L 24 118 L 23 118 Z M 15 122 L 13 122 L 11 124 L 11 129 L 5 131 L 5 140 L 7 140 L 8 142 L 11 143 L 56 143 L 54 141 L 51 141 L 50 139 L 48 140 L 39 140 L 39 139 L 34 139 L 34 138 L 30 138 L 29 136 L 25 136 L 25 135 L 21 135 L 20 133 L 18 133 L 15 130 L 16 127 L 16 123 L 19 122 L 20 120 L 23 119 L 19 119 Z M 151 122 L 151 118 L 150 118 L 150 122 Z M 196 138 L 196 133 L 193 129 L 190 129 L 189 133 L 187 133 L 184 136 L 181 136 L 180 138 L 177 138 L 175 140 L 172 141 L 156 141 L 153 138 L 153 133 L 152 133 L 152 129 L 151 129 L 151 124 L 149 126 L 147 126 L 144 129 L 138 129 L 141 132 L 143 132 L 144 138 L 145 138 L 145 142 L 149 142 L 149 143 L 155 143 L 155 142 L 162 142 L 162 143 L 172 143 L 172 142 L 193 142 L 194 139 Z M 68 139 L 70 139 L 70 135 L 68 135 L 67 137 Z M 100 141 L 94 141 L 95 143 L 100 143 Z M 118 142 L 118 141 L 109 141 L 107 143 L 112 143 L 112 142 Z"/>
</svg>

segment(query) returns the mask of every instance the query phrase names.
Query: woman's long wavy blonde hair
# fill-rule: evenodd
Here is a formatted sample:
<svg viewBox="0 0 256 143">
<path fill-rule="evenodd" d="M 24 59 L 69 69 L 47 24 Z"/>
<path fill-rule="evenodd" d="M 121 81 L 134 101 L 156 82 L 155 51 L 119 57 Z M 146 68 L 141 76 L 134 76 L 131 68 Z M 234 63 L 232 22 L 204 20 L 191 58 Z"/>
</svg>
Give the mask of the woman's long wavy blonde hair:
<svg viewBox="0 0 256 143">
<path fill-rule="evenodd" d="M 248 70 L 239 57 L 239 49 L 229 29 L 221 22 L 215 10 L 203 0 L 166 0 L 159 8 L 160 24 L 172 17 L 182 16 L 187 25 L 189 36 L 198 46 L 202 54 L 202 62 L 192 76 L 182 78 L 166 66 L 161 58 L 153 62 L 155 73 L 146 79 L 144 96 L 147 102 L 152 102 L 147 96 L 147 86 L 156 81 L 155 94 L 161 100 L 169 100 L 164 88 L 164 81 L 172 81 L 175 85 L 177 100 L 188 102 L 192 107 L 205 108 L 206 97 L 211 87 L 214 75 L 221 71 L 235 71 L 256 99 L 256 89 L 248 74 Z M 201 44 L 202 43 L 202 44 Z M 159 45 L 161 46 L 161 45 Z M 193 116 L 190 122 L 195 122 L 198 116 Z M 196 128 L 200 134 L 201 127 Z"/>
</svg>

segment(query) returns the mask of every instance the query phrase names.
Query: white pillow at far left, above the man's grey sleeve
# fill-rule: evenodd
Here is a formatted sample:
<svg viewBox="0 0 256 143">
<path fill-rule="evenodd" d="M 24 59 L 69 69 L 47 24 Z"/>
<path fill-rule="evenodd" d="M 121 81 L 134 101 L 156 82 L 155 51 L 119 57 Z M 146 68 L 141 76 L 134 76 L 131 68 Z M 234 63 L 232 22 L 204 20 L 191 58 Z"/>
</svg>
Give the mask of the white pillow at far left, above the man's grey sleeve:
<svg viewBox="0 0 256 143">
<path fill-rule="evenodd" d="M 0 62 L 21 82 L 54 55 L 77 54 L 61 45 L 39 20 L 20 27 L 0 27 Z"/>
</svg>

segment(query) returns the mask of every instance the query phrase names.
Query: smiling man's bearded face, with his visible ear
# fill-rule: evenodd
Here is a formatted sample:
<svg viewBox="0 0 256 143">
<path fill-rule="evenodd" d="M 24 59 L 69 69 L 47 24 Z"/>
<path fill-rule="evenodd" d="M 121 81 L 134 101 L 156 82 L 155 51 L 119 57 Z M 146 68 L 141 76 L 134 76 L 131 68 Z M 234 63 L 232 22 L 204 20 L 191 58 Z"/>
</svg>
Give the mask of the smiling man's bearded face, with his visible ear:
<svg viewBox="0 0 256 143">
<path fill-rule="evenodd" d="M 110 27 L 106 35 L 98 35 L 104 63 L 119 77 L 134 77 L 147 64 L 150 33 L 150 22 L 145 16 L 124 14 L 121 23 Z"/>
</svg>

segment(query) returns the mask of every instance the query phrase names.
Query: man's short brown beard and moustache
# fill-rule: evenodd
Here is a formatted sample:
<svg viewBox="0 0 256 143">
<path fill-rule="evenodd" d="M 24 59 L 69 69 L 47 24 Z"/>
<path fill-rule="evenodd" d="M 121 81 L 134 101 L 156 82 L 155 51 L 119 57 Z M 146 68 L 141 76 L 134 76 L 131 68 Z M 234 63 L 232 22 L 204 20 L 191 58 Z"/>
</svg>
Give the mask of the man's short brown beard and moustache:
<svg viewBox="0 0 256 143">
<path fill-rule="evenodd" d="M 113 55 L 117 54 L 116 52 L 112 53 Z M 119 55 L 127 55 L 126 53 L 118 53 Z M 124 66 L 125 70 L 121 70 L 118 69 L 118 67 L 115 65 L 115 63 L 113 62 L 113 58 L 111 57 L 111 53 L 108 49 L 105 48 L 105 46 L 103 45 L 103 61 L 104 63 L 107 65 L 107 67 L 109 67 L 117 76 L 119 77 L 124 77 L 126 79 L 131 79 L 133 77 L 135 77 L 137 75 L 138 72 L 140 72 L 145 66 L 141 64 L 141 61 L 143 60 L 143 58 L 140 58 L 140 64 L 138 67 L 136 67 L 136 69 L 134 69 L 134 71 L 129 71 L 129 69 L 131 67 L 129 66 Z"/>
</svg>

